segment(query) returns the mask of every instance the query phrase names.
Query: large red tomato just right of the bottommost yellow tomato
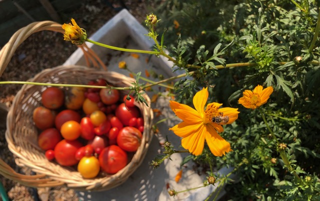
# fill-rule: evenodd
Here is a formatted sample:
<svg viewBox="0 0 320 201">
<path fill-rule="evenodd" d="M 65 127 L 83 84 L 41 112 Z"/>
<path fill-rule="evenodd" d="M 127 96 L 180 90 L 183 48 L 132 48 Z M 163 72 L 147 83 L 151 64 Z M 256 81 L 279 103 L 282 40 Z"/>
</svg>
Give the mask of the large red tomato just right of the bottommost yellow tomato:
<svg viewBox="0 0 320 201">
<path fill-rule="evenodd" d="M 99 155 L 100 167 L 108 174 L 115 174 L 125 167 L 127 154 L 120 147 L 110 145 L 105 147 Z"/>
</svg>

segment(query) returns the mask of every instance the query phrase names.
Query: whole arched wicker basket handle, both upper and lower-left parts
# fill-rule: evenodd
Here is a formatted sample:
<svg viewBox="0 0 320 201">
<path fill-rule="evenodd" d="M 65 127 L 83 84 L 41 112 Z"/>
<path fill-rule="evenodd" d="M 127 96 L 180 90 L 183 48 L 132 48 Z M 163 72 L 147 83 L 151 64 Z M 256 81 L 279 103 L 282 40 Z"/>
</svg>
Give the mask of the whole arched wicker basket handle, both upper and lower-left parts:
<svg viewBox="0 0 320 201">
<path fill-rule="evenodd" d="M 61 25 L 52 21 L 35 22 L 19 29 L 17 32 L 13 34 L 8 43 L 5 44 L 3 48 L 0 50 L 0 77 L 4 72 L 6 66 L 10 62 L 15 50 L 19 47 L 19 45 L 23 41 L 25 41 L 31 34 L 40 31 L 53 31 L 64 33 L 63 29 L 61 28 Z M 106 67 L 103 64 L 103 62 L 90 48 L 88 48 L 85 45 L 85 43 L 78 47 L 83 51 L 88 67 L 90 66 L 90 64 L 92 64 L 95 67 L 102 67 L 104 70 L 106 70 Z M 61 181 L 45 178 L 44 174 L 24 175 L 17 173 L 2 159 L 0 159 L 0 174 L 8 179 L 17 181 L 26 186 L 52 187 L 63 184 L 63 182 Z"/>
</svg>

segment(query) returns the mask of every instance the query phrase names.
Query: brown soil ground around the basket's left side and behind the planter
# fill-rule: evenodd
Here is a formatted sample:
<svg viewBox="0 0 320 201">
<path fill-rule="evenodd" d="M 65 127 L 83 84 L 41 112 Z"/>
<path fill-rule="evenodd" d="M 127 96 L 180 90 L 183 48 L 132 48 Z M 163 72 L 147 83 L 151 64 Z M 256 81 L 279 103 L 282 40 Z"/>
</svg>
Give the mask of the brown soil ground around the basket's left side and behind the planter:
<svg viewBox="0 0 320 201">
<path fill-rule="evenodd" d="M 106 2 L 111 3 L 114 8 L 107 5 Z M 112 2 L 116 2 L 117 4 Z M 68 16 L 65 23 L 69 23 L 69 19 L 74 18 L 77 24 L 81 28 L 84 28 L 87 35 L 90 36 L 118 13 L 122 8 L 122 5 L 118 4 L 119 2 L 122 1 L 100 2 L 85 0 L 76 11 L 65 14 L 65 16 Z M 128 0 L 123 2 L 128 11 L 138 22 L 142 23 L 146 14 L 148 14 L 147 8 L 150 8 L 150 5 L 147 5 L 143 0 Z M 59 33 L 49 31 L 35 33 L 16 50 L 15 55 L 0 77 L 0 81 L 26 81 L 43 69 L 62 65 L 75 50 L 76 46 L 63 41 L 63 37 Z M 21 85 L 13 84 L 0 86 L 0 103 L 2 106 L 5 105 L 6 108 L 9 108 L 14 95 L 20 88 Z M 3 111 L 0 113 L 0 116 L 3 116 Z M 5 118 L 3 119 L 5 121 Z M 30 170 L 15 164 L 14 156 L 7 148 L 4 133 L 5 122 L 2 121 L 0 122 L 0 158 L 16 172 L 30 174 Z M 65 187 L 35 189 L 23 186 L 2 175 L 0 175 L 0 180 L 10 200 L 79 200 L 72 189 Z M 0 200 L 2 200 L 1 197 Z"/>
</svg>

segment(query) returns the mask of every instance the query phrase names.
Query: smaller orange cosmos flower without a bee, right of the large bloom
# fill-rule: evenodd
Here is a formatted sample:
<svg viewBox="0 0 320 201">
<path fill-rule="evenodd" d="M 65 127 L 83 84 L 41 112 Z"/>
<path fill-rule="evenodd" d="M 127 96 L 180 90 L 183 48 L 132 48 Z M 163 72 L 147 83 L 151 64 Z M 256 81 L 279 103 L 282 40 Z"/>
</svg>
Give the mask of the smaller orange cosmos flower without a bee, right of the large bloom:
<svg viewBox="0 0 320 201">
<path fill-rule="evenodd" d="M 258 85 L 253 91 L 245 90 L 243 97 L 239 98 L 238 103 L 254 110 L 266 103 L 272 92 L 273 88 L 271 86 L 263 89 L 262 86 Z"/>
</svg>

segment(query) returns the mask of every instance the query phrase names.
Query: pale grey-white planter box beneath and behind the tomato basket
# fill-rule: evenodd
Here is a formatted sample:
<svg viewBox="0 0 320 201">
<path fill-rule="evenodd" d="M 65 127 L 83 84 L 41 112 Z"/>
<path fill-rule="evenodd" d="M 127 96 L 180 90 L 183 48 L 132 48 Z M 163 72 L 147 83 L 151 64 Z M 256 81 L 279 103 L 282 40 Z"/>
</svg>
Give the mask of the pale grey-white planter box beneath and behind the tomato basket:
<svg viewBox="0 0 320 201">
<path fill-rule="evenodd" d="M 153 41 L 149 40 L 147 30 L 136 21 L 136 19 L 126 10 L 122 10 L 104 26 L 102 26 L 90 39 L 96 42 L 101 42 L 111 46 L 126 47 L 129 49 L 151 50 Z M 130 56 L 128 52 L 118 52 L 106 48 L 95 46 L 91 43 L 87 45 L 104 61 L 107 62 L 108 71 L 116 71 L 124 75 L 129 73 L 126 70 L 119 69 L 118 63 L 126 61 L 127 66 L 133 72 L 141 72 L 141 76 L 145 77 L 145 69 L 149 72 L 155 72 L 164 77 L 171 77 L 172 63 L 168 62 L 163 57 L 149 56 L 139 54 L 139 59 Z M 149 62 L 146 62 L 149 59 Z M 81 50 L 76 50 L 64 65 L 85 65 L 85 60 Z M 164 91 L 164 90 L 163 90 Z M 151 97 L 152 94 L 149 94 Z M 162 115 L 154 122 L 165 117 L 174 117 L 171 109 L 168 106 L 168 100 L 159 98 L 153 108 L 161 110 Z M 183 174 L 178 183 L 174 181 L 176 173 L 180 170 L 179 165 L 183 157 L 187 154 L 173 154 L 171 160 L 165 160 L 160 167 L 152 169 L 150 162 L 160 153 L 159 141 L 168 136 L 172 145 L 177 148 L 180 145 L 180 138 L 175 136 L 173 132 L 168 131 L 169 127 L 174 126 L 179 122 L 178 119 L 172 118 L 166 122 L 158 124 L 160 134 L 155 136 L 150 144 L 148 153 L 146 154 L 143 163 L 137 170 L 127 179 L 127 181 L 118 187 L 102 192 L 77 192 L 80 200 L 109 200 L 109 201 L 137 201 L 137 200 L 203 200 L 216 187 L 210 185 L 208 187 L 199 188 L 197 190 L 186 191 L 171 197 L 167 193 L 167 187 L 173 188 L 176 191 L 186 188 L 201 186 L 206 179 L 206 175 L 198 175 L 192 170 L 190 163 L 187 167 L 183 167 Z M 227 174 L 230 169 L 223 168 L 219 171 L 220 174 Z M 217 185 L 217 184 L 216 184 Z M 223 195 L 223 191 L 220 196 Z"/>
</svg>

